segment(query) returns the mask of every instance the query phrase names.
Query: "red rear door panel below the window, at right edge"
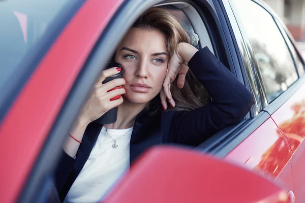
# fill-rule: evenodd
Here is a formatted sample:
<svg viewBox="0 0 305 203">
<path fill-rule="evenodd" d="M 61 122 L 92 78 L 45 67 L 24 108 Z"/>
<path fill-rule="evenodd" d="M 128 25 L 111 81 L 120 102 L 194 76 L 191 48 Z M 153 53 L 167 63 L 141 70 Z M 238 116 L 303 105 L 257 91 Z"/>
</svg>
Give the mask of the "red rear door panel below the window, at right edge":
<svg viewBox="0 0 305 203">
<path fill-rule="evenodd" d="M 286 95 L 288 99 L 271 117 L 278 124 L 291 148 L 293 192 L 296 202 L 305 199 L 305 78 L 302 76 L 295 84 L 295 92 Z"/>
</svg>

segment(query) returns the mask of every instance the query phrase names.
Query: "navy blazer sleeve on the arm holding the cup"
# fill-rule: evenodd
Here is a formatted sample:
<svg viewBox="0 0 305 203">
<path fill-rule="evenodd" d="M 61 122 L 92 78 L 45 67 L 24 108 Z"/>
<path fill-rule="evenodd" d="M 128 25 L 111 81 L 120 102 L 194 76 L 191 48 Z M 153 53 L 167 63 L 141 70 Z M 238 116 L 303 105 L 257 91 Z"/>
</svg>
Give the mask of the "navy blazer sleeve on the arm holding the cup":
<svg viewBox="0 0 305 203">
<path fill-rule="evenodd" d="M 58 192 L 61 191 L 66 184 L 68 177 L 72 172 L 74 163 L 75 159 L 62 150 L 62 156 L 60 157 L 54 173 L 55 185 Z"/>
</svg>

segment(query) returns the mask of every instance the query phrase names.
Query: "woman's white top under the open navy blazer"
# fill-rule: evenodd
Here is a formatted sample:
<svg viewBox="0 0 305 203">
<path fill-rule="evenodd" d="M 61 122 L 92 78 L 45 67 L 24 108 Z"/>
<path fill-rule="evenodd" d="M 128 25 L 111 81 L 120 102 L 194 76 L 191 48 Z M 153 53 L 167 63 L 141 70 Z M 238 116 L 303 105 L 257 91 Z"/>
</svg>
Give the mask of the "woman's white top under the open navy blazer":
<svg viewBox="0 0 305 203">
<path fill-rule="evenodd" d="M 119 177 L 129 170 L 129 146 L 133 127 L 107 129 L 107 131 L 111 138 L 118 139 L 116 141 L 117 148 L 112 148 L 114 141 L 106 133 L 106 128 L 103 127 L 88 160 L 70 188 L 64 203 L 98 202 Z"/>
</svg>

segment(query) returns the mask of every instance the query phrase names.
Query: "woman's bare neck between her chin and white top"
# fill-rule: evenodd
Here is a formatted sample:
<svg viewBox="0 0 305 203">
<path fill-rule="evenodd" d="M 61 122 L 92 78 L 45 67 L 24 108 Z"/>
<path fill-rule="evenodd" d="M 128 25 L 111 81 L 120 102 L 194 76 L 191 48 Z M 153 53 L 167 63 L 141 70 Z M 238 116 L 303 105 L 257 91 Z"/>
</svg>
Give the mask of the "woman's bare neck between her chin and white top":
<svg viewBox="0 0 305 203">
<path fill-rule="evenodd" d="M 127 98 L 124 98 L 124 103 L 118 107 L 116 122 L 106 124 L 109 129 L 126 129 L 133 127 L 137 115 L 145 108 L 146 104 L 131 103 Z"/>
</svg>

